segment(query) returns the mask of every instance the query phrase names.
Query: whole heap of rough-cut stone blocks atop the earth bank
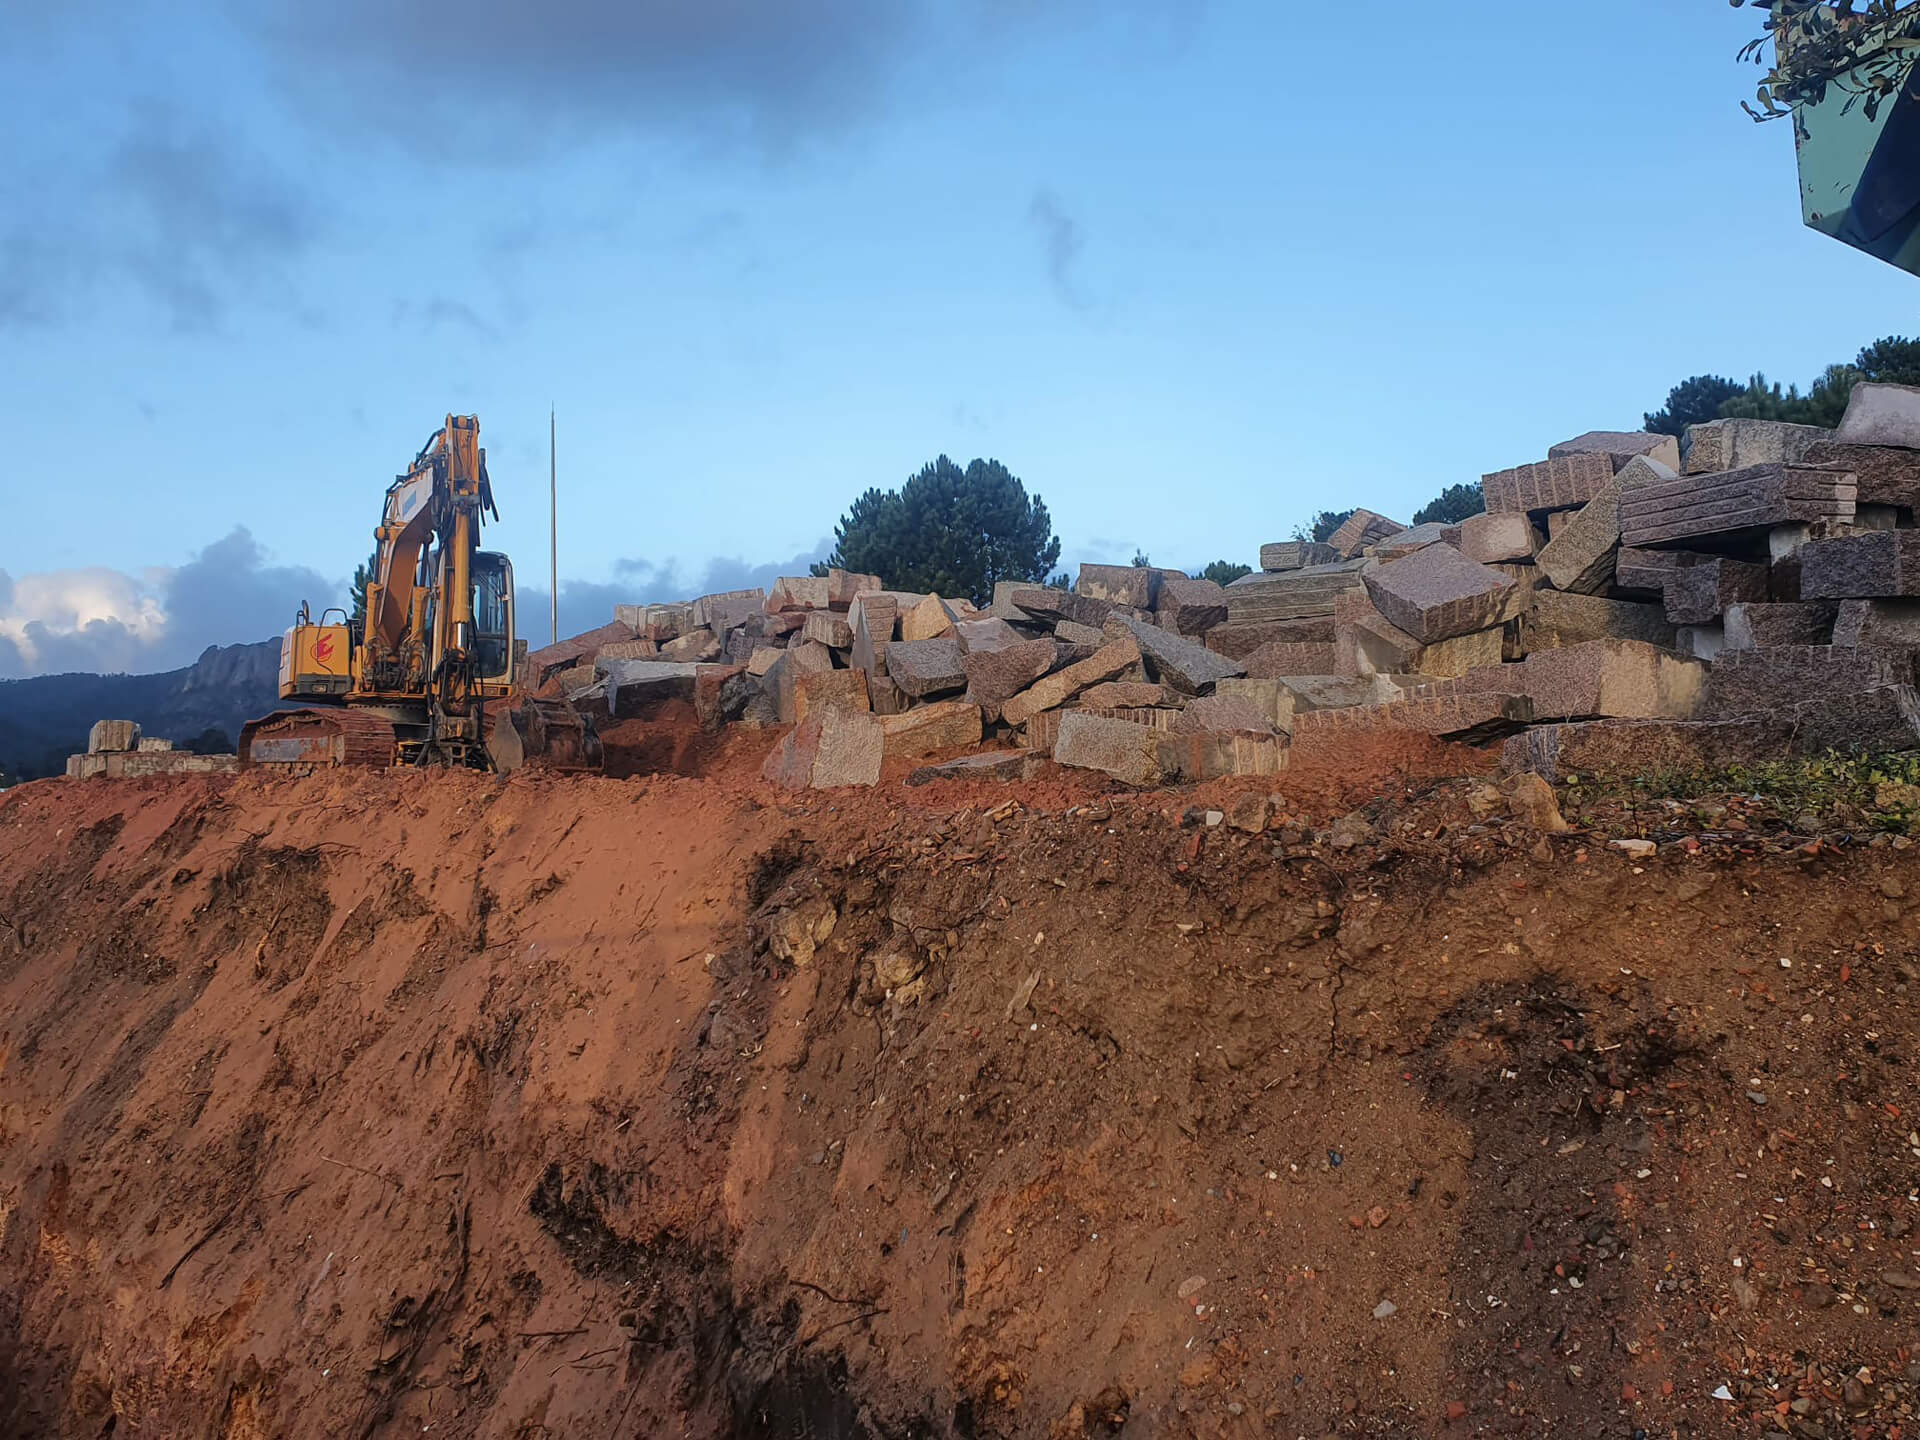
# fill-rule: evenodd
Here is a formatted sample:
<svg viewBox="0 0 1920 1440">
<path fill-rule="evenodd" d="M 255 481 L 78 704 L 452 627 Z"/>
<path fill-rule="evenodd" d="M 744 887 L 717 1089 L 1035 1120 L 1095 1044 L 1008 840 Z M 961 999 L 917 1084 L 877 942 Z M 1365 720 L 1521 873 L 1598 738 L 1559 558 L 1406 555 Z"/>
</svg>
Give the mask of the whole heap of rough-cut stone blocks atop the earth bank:
<svg viewBox="0 0 1920 1440">
<path fill-rule="evenodd" d="M 1131 785 L 1379 730 L 1551 780 L 1920 749 L 1920 388 L 1859 386 L 1834 432 L 1592 432 L 1482 495 L 1461 524 L 1356 509 L 1231 586 L 1085 564 L 975 605 L 829 570 L 618 607 L 526 680 L 601 722 L 801 724 L 766 766 L 795 787 L 985 741 Z"/>
</svg>

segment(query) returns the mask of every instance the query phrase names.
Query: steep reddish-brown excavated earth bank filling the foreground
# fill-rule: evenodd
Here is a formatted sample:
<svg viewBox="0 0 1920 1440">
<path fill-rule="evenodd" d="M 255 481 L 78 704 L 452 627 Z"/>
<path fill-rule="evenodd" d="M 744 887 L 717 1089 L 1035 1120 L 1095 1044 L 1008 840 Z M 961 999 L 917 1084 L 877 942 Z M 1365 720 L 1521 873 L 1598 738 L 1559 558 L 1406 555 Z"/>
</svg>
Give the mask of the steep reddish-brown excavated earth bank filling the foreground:
<svg viewBox="0 0 1920 1440">
<path fill-rule="evenodd" d="M 1920 1436 L 1914 847 L 764 751 L 0 797 L 0 1434 Z"/>
</svg>

